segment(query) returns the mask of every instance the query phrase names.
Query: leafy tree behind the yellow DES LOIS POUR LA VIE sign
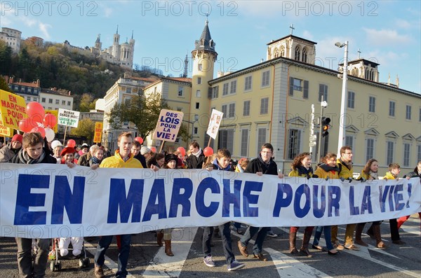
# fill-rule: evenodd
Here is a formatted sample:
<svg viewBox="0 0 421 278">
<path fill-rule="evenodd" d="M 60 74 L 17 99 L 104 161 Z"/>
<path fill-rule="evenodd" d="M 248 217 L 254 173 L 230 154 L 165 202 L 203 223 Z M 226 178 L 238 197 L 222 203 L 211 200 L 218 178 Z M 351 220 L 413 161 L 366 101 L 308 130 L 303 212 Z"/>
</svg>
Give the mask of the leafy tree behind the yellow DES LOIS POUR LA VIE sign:
<svg viewBox="0 0 421 278">
<path fill-rule="evenodd" d="M 171 110 L 171 107 L 161 98 L 160 92 L 147 97 L 140 93 L 132 97 L 131 102 L 116 104 L 107 115 L 113 128 L 119 129 L 122 122 L 131 122 L 138 129 L 138 136 L 145 138 L 155 130 L 161 109 Z M 181 134 L 187 134 L 184 126 L 180 130 Z"/>
</svg>

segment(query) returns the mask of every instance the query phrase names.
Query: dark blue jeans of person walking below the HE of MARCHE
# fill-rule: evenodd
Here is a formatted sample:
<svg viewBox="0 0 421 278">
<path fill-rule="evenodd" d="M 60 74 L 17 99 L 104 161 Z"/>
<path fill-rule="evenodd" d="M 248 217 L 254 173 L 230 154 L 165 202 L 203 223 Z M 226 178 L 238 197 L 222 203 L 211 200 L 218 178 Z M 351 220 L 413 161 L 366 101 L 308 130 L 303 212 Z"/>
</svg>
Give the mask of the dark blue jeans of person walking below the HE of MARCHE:
<svg viewBox="0 0 421 278">
<path fill-rule="evenodd" d="M 218 228 L 221 232 L 222 246 L 224 247 L 225 259 L 227 260 L 227 265 L 232 263 L 235 260 L 234 253 L 232 252 L 231 244 L 231 230 L 229 229 L 229 222 L 219 225 Z M 213 227 L 203 227 L 203 239 L 202 239 L 202 248 L 203 256 L 211 256 L 210 253 L 210 239 L 213 234 Z"/>
</svg>

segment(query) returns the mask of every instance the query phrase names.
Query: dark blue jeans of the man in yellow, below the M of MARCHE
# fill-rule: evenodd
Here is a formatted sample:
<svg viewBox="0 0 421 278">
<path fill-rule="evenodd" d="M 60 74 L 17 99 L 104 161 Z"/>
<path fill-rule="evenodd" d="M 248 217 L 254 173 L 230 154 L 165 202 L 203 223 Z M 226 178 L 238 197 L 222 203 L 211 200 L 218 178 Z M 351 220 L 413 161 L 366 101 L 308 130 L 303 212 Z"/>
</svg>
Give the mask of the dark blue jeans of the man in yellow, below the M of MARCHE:
<svg viewBox="0 0 421 278">
<path fill-rule="evenodd" d="M 107 251 L 109 244 L 111 244 L 112 237 L 114 237 L 114 235 L 104 235 L 101 237 L 100 242 L 98 242 L 97 251 L 95 253 L 95 265 L 104 265 L 105 251 Z M 130 243 L 131 235 L 121 235 L 121 246 L 118 258 L 119 267 L 117 269 L 116 277 L 123 278 L 127 276 L 126 267 L 128 261 L 128 254 L 130 253 Z"/>
</svg>

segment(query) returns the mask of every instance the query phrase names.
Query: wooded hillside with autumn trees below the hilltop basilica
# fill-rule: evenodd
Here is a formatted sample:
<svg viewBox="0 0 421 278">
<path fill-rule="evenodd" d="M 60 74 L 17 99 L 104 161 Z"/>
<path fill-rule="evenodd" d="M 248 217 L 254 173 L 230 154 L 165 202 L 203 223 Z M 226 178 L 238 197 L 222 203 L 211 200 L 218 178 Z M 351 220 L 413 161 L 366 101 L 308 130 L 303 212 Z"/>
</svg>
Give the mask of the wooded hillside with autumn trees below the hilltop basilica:
<svg viewBox="0 0 421 278">
<path fill-rule="evenodd" d="M 0 75 L 14 76 L 15 80 L 24 82 L 39 79 L 41 88 L 69 90 L 74 95 L 74 107 L 79 106 L 84 93 L 93 99 L 104 97 L 124 71 L 127 69 L 99 58 L 69 51 L 62 43 L 46 42 L 36 46 L 31 41 L 22 41 L 20 53 L 13 54 L 11 48 L 0 41 Z M 133 72 L 133 76 L 138 77 L 151 74 L 148 70 Z"/>
</svg>

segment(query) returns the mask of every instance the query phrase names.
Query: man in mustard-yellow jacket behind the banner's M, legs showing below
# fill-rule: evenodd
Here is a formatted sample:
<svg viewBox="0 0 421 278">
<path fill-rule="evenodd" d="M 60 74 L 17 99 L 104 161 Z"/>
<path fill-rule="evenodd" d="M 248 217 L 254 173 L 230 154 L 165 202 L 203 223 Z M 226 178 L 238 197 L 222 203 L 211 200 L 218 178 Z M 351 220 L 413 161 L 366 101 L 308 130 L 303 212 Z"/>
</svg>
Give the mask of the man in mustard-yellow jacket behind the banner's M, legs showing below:
<svg viewBox="0 0 421 278">
<path fill-rule="evenodd" d="M 131 132 L 122 132 L 117 139 L 117 146 L 119 150 L 114 156 L 105 158 L 102 161 L 101 168 L 143 168 L 139 160 L 133 158 L 131 148 L 133 145 L 133 137 Z M 102 236 L 97 246 L 95 253 L 95 269 L 94 274 L 97 278 L 103 278 L 104 271 L 102 265 L 105 262 L 105 251 L 107 251 L 109 244 L 112 242 L 112 235 Z M 131 235 L 121 235 L 121 247 L 119 249 L 119 267 L 117 269 L 116 277 L 127 276 L 127 261 L 130 253 Z"/>
</svg>

